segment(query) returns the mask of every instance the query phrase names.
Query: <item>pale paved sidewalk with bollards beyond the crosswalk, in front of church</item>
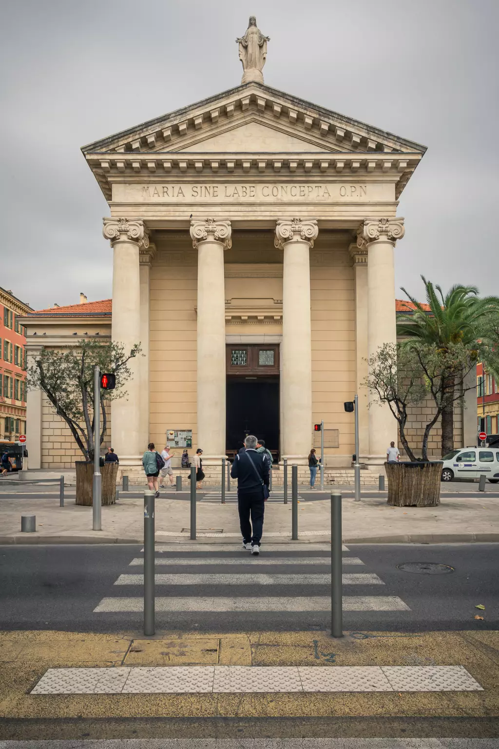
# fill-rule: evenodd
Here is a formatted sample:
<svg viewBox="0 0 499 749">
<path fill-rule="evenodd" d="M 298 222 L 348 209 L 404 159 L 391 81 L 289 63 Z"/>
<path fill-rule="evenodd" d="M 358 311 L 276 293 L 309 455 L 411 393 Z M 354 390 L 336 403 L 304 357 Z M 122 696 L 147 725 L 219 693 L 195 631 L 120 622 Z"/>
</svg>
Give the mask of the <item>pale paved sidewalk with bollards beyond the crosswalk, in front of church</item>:
<svg viewBox="0 0 499 749">
<path fill-rule="evenodd" d="M 302 492 L 303 494 L 303 492 Z M 299 542 L 330 540 L 329 500 L 299 503 Z M 1 497 L 0 544 L 46 543 L 142 543 L 142 499 L 120 499 L 102 507 L 102 531 L 92 529 L 91 507 L 76 506 L 67 497 Z M 263 543 L 289 542 L 291 503 L 268 503 Z M 36 533 L 20 533 L 21 515 L 36 515 Z M 156 500 L 156 543 L 189 543 L 190 503 Z M 240 539 L 236 503 L 222 505 L 200 501 L 197 506 L 198 540 L 233 542 Z M 391 507 L 386 497 L 364 497 L 355 503 L 343 498 L 345 543 L 459 543 L 499 542 L 499 500 L 480 494 L 477 498 L 443 497 L 438 507 Z"/>
</svg>

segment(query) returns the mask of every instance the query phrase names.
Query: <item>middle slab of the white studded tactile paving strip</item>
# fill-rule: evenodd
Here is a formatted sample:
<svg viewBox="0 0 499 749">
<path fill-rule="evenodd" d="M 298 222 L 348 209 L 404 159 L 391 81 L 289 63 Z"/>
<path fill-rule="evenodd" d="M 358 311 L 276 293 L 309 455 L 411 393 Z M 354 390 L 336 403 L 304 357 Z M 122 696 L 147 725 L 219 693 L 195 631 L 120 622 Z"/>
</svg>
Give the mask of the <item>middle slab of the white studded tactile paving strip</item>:
<svg viewBox="0 0 499 749">
<path fill-rule="evenodd" d="M 293 666 L 217 666 L 214 692 L 301 692 L 298 668 Z"/>
</svg>

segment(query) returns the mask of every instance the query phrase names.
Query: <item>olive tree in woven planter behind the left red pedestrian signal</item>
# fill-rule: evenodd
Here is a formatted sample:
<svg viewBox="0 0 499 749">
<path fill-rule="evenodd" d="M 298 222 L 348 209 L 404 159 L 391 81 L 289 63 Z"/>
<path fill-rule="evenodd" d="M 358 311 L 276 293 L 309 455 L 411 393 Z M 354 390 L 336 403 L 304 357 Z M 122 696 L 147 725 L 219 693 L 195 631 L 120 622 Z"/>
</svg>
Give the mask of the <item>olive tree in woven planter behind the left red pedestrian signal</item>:
<svg viewBox="0 0 499 749">
<path fill-rule="evenodd" d="M 124 398 L 124 385 L 132 377 L 129 361 L 140 354 L 135 344 L 126 352 L 120 343 L 101 343 L 83 339 L 76 346 L 55 351 L 43 348 L 40 357 L 28 369 L 28 387 L 40 388 L 49 398 L 55 413 L 67 423 L 84 461 L 76 461 L 76 504 L 92 503 L 92 464 L 99 458 L 107 428 L 107 402 Z M 116 375 L 114 390 L 100 390 L 102 427 L 100 441 L 94 444 L 94 368 Z M 108 463 L 102 471 L 102 504 L 114 503 L 117 464 Z M 107 475 L 109 474 L 109 475 Z"/>
</svg>

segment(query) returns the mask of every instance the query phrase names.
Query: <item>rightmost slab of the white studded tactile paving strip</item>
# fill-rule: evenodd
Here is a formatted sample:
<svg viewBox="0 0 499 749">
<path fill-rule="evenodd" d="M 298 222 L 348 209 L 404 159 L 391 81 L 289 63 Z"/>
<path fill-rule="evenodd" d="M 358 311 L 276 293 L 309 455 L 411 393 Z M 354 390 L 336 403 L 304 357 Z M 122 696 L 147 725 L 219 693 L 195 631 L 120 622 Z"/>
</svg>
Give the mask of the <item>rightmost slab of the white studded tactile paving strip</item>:
<svg viewBox="0 0 499 749">
<path fill-rule="evenodd" d="M 483 688 L 464 666 L 382 666 L 396 692 L 471 692 Z"/>
</svg>

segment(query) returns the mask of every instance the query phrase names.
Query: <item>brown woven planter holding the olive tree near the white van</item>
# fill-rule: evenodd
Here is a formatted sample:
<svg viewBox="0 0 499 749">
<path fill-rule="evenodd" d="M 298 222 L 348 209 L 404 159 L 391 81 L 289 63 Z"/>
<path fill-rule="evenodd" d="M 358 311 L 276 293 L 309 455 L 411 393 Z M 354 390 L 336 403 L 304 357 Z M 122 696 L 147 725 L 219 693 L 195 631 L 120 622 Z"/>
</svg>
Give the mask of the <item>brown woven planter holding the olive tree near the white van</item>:
<svg viewBox="0 0 499 749">
<path fill-rule="evenodd" d="M 395 507 L 439 505 L 442 465 L 442 461 L 385 463 L 388 504 Z"/>
</svg>

